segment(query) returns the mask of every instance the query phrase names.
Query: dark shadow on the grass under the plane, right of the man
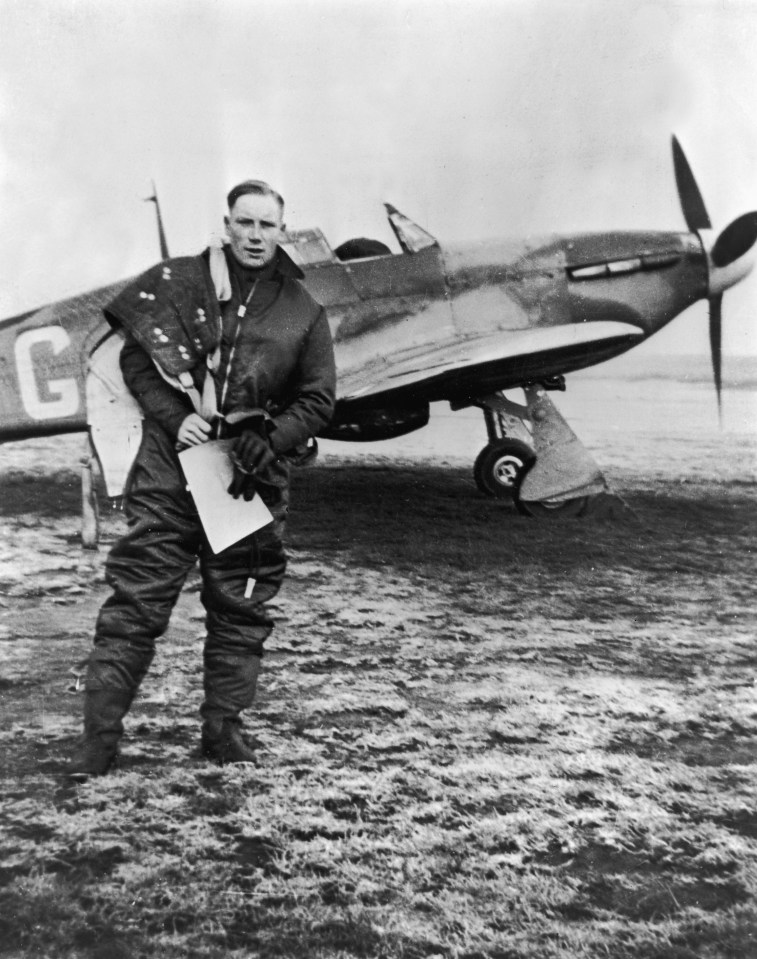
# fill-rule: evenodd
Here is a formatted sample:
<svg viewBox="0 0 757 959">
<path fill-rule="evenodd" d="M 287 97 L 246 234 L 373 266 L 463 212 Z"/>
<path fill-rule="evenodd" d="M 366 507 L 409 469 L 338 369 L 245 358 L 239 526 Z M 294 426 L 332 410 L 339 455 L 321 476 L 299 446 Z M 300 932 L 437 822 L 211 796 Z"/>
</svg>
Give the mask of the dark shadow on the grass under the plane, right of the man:
<svg viewBox="0 0 757 959">
<path fill-rule="evenodd" d="M 475 488 L 468 471 L 428 465 L 320 466 L 295 472 L 289 542 L 349 551 L 365 565 L 549 569 L 596 562 L 665 571 L 711 565 L 713 540 L 757 533 L 747 487 L 660 484 L 624 494 L 608 518 L 538 520 Z"/>
</svg>

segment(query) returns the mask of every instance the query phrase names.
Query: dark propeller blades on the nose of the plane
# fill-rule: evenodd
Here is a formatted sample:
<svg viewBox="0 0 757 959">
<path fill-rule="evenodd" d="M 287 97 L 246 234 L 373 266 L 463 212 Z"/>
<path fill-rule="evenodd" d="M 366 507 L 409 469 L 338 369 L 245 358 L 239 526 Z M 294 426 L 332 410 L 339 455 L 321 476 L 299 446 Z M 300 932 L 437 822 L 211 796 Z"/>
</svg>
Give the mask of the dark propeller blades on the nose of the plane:
<svg viewBox="0 0 757 959">
<path fill-rule="evenodd" d="M 676 137 L 673 137 L 673 168 L 686 226 L 692 233 L 712 229 L 710 217 L 697 181 L 694 179 L 689 161 L 686 159 L 686 155 Z M 757 213 L 745 213 L 720 233 L 709 251 L 712 266 L 715 268 L 710 270 L 710 295 L 708 297 L 710 304 L 710 356 L 712 357 L 715 393 L 718 399 L 718 417 L 721 423 L 723 290 L 746 275 L 746 272 L 734 272 L 733 275 L 728 275 L 725 269 L 745 253 L 748 253 L 755 241 L 757 241 Z"/>
</svg>

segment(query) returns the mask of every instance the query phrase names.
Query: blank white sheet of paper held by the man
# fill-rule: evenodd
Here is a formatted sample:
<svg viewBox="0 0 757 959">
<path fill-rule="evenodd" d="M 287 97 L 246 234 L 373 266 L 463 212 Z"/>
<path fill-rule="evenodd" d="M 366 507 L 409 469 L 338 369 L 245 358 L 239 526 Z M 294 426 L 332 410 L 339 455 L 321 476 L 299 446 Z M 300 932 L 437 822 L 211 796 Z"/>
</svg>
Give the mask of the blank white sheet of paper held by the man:
<svg viewBox="0 0 757 959">
<path fill-rule="evenodd" d="M 234 468 L 229 459 L 232 440 L 211 440 L 179 453 L 187 486 L 214 553 L 238 543 L 273 520 L 263 500 L 247 502 L 227 492 Z"/>
</svg>

